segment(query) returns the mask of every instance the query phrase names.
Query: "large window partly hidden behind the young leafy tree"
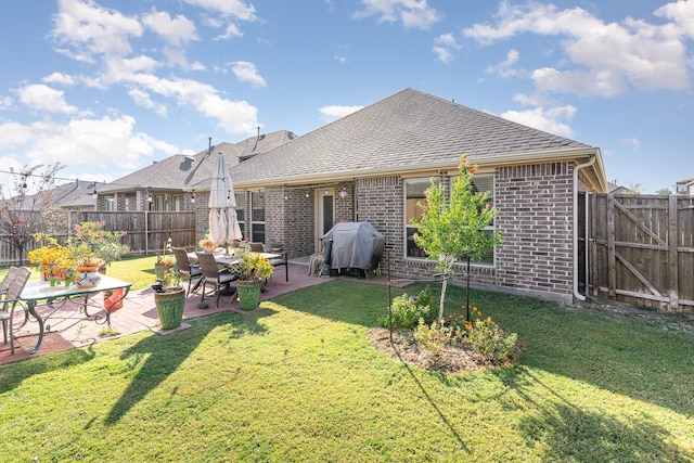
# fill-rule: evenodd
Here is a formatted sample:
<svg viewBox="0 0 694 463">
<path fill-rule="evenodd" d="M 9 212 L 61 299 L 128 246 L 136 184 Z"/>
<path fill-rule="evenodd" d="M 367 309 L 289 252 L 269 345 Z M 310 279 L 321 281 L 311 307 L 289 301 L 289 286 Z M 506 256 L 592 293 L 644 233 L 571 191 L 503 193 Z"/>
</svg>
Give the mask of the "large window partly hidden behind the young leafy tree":
<svg viewBox="0 0 694 463">
<path fill-rule="evenodd" d="M 451 189 L 452 189 L 453 182 L 455 182 L 455 178 L 451 179 Z M 416 230 L 416 227 L 414 227 L 411 223 L 411 220 L 412 219 L 420 220 L 422 218 L 422 208 L 417 206 L 416 203 L 426 201 L 424 192 L 426 191 L 427 188 L 429 188 L 430 184 L 432 184 L 432 181 L 429 179 L 411 179 L 411 180 L 406 180 L 404 182 L 404 218 L 406 218 L 404 248 L 406 248 L 406 257 L 409 257 L 409 258 L 426 257 L 424 250 L 421 249 L 414 243 L 414 233 L 416 233 L 417 230 Z M 494 184 L 493 176 L 485 176 L 485 175 L 478 173 L 473 177 L 473 189 L 475 190 L 475 192 L 478 192 L 478 191 L 489 192 L 489 197 L 487 202 L 490 204 L 490 206 L 494 205 L 493 184 Z M 489 233 L 491 233 L 493 231 L 493 223 L 490 224 L 486 230 Z M 481 261 L 477 263 L 493 265 L 493 249 L 489 249 L 489 252 L 483 256 Z"/>
</svg>

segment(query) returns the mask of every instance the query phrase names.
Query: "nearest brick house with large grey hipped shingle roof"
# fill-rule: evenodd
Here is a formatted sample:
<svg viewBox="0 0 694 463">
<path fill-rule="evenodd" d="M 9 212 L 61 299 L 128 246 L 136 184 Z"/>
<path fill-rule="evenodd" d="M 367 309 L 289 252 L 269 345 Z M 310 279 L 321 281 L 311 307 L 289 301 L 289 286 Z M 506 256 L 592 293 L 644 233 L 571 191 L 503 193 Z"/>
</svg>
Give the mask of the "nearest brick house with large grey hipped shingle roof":
<svg viewBox="0 0 694 463">
<path fill-rule="evenodd" d="M 478 165 L 474 184 L 490 191 L 504 241 L 474 265 L 471 282 L 565 303 L 580 297 L 577 196 L 607 191 L 599 147 L 406 89 L 230 173 L 252 241 L 306 256 L 320 252 L 334 223 L 369 221 L 386 236 L 391 274 L 432 276 L 410 220 L 430 179 L 452 181 L 461 154 Z M 457 270 L 462 280 L 462 263 Z"/>
</svg>

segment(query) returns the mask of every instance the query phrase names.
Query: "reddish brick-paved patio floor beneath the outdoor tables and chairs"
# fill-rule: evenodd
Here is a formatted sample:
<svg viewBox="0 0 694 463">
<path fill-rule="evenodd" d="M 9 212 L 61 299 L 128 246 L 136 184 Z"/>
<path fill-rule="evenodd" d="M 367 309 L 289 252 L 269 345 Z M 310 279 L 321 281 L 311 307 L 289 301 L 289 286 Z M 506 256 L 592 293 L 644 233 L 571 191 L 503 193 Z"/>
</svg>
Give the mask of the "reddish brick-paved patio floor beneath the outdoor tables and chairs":
<svg viewBox="0 0 694 463">
<path fill-rule="evenodd" d="M 303 287 L 330 281 L 330 279 L 309 276 L 307 263 L 306 259 L 291 260 L 287 266 L 288 283 L 284 281 L 284 271 L 281 271 L 268 282 L 267 291 L 260 295 L 260 300 L 271 299 Z M 385 284 L 385 278 L 382 278 L 380 282 Z M 374 283 L 376 282 L 374 281 Z M 215 307 L 215 298 L 206 297 L 205 301 L 209 303 L 209 307 L 207 309 L 198 309 L 201 293 L 191 293 L 185 301 L 183 323 L 185 323 L 185 320 L 209 316 L 223 310 L 246 313 L 240 309 L 239 300 L 230 301 L 229 299 L 230 296 L 222 296 L 219 300 L 219 307 Z M 94 316 L 99 314 L 99 311 L 92 309 L 89 311 L 89 317 L 85 317 L 81 313 L 76 313 L 78 309 L 79 306 L 77 304 L 68 303 L 49 318 L 47 324 L 52 325 L 51 331 L 47 331 L 43 335 L 43 342 L 39 350 L 34 355 L 29 352 L 36 346 L 38 337 L 36 322 L 29 322 L 22 329 L 15 330 L 15 335 L 18 337 L 15 338 L 14 355 L 10 353 L 10 344 L 0 344 L 0 364 L 114 338 L 113 336 L 100 335 L 105 325 L 94 322 Z M 37 307 L 39 313 L 46 310 L 47 307 L 44 305 Z M 61 318 L 61 314 L 65 319 Z M 72 318 L 67 319 L 69 316 Z M 15 323 L 22 323 L 21 311 L 15 311 Z M 151 288 L 131 291 L 125 299 L 123 309 L 112 313 L 111 323 L 113 329 L 118 332 L 117 336 L 125 336 L 142 330 L 157 331 L 158 316 L 154 305 L 154 291 Z M 172 330 L 171 332 L 176 331 Z"/>
</svg>

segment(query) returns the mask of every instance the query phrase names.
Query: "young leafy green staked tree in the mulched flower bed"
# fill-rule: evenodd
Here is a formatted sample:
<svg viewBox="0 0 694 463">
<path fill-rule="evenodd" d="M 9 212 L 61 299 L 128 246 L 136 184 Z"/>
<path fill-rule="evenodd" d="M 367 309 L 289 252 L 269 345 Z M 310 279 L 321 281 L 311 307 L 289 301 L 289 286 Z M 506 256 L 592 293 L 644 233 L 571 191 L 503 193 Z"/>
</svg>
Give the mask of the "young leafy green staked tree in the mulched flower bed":
<svg viewBox="0 0 694 463">
<path fill-rule="evenodd" d="M 466 320 L 470 321 L 470 261 L 480 260 L 485 252 L 500 244 L 501 233 L 489 232 L 489 227 L 497 211 L 487 202 L 489 192 L 475 192 L 472 177 L 477 166 L 471 166 L 465 155 L 461 156 L 460 176 L 452 185 L 450 197 L 446 197 L 445 185 L 432 179 L 426 190 L 426 202 L 417 203 L 422 208 L 422 218 L 412 219 L 417 228 L 414 242 L 426 253 L 426 258 L 436 260 L 436 268 L 441 271 L 441 300 L 439 305 L 438 325 L 444 320 L 444 301 L 448 280 L 453 276 L 453 263 L 467 261 L 467 304 Z"/>
</svg>

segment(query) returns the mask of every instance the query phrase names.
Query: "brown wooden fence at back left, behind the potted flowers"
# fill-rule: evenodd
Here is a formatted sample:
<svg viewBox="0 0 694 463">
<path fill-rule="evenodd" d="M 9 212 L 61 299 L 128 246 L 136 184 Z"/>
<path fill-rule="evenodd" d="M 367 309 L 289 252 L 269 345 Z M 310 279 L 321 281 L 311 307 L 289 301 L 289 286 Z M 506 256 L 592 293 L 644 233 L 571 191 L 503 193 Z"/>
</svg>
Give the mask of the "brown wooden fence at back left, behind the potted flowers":
<svg viewBox="0 0 694 463">
<path fill-rule="evenodd" d="M 125 231 L 123 243 L 130 246 L 129 255 L 156 254 L 166 247 L 170 237 L 174 246 L 195 247 L 195 213 L 159 213 L 159 211 L 70 211 L 69 226 L 86 221 L 102 221 L 104 230 Z M 56 236 L 64 242 L 67 233 Z M 41 243 L 33 240 L 27 244 L 27 253 Z M 14 265 L 20 261 L 17 249 L 4 241 L 0 241 L 0 265 Z"/>
</svg>

